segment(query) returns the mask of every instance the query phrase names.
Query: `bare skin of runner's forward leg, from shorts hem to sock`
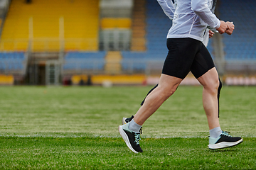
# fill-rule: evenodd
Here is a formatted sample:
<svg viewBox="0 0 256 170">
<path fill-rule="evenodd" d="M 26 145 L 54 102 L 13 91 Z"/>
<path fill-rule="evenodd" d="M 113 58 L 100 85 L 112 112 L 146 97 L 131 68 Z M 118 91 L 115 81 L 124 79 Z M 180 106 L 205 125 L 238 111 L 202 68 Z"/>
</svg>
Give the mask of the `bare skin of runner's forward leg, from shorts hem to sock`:
<svg viewBox="0 0 256 170">
<path fill-rule="evenodd" d="M 220 126 L 218 118 L 218 72 L 210 69 L 206 74 L 198 78 L 203 85 L 203 108 L 206 112 L 209 129 Z"/>
</svg>

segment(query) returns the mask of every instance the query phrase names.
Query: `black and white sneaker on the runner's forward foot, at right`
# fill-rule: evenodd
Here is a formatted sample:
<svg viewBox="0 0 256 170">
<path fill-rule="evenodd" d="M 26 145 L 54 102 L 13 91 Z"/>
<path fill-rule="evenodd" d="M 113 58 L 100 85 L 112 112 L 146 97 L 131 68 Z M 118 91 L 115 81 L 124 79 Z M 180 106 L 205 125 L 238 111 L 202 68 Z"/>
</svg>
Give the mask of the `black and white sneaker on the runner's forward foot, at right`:
<svg viewBox="0 0 256 170">
<path fill-rule="evenodd" d="M 229 132 L 223 131 L 219 137 L 209 137 L 209 149 L 222 149 L 225 147 L 233 147 L 242 142 L 241 137 L 232 137 Z"/>
</svg>

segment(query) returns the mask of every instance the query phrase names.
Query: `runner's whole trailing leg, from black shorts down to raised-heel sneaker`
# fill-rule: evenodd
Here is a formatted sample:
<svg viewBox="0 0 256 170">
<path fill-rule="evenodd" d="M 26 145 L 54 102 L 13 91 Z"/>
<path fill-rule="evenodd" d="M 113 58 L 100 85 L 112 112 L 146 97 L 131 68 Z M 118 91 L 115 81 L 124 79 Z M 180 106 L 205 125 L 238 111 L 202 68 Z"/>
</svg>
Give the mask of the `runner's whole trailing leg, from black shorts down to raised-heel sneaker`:
<svg viewBox="0 0 256 170">
<path fill-rule="evenodd" d="M 159 85 L 146 96 L 146 99 L 134 118 L 127 124 L 119 126 L 119 133 L 127 147 L 133 152 L 142 152 L 139 147 L 142 124 L 151 116 L 169 96 L 174 94 L 178 85 L 190 71 L 193 57 L 200 49 L 201 42 L 191 38 L 174 38 L 167 40 L 169 49 L 164 62 Z"/>
</svg>

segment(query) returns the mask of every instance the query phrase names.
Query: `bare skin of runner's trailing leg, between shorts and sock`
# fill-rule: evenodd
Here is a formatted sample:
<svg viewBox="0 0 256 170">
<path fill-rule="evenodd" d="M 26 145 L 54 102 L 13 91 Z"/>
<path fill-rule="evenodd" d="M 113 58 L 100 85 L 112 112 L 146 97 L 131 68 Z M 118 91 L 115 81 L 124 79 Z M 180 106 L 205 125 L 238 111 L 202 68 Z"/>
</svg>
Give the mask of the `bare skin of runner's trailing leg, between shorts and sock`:
<svg viewBox="0 0 256 170">
<path fill-rule="evenodd" d="M 134 122 L 142 125 L 167 98 L 174 94 L 181 81 L 182 79 L 180 78 L 161 74 L 159 86 L 146 97 L 144 104 L 134 115 Z"/>
</svg>

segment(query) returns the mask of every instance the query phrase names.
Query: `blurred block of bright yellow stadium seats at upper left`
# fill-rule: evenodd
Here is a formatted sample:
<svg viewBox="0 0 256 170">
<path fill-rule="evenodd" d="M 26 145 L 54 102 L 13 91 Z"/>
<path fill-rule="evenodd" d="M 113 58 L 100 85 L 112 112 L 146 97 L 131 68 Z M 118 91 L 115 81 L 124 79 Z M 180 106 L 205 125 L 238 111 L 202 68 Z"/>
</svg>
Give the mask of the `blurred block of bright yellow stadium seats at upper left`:
<svg viewBox="0 0 256 170">
<path fill-rule="evenodd" d="M 97 50 L 99 0 L 25 1 L 13 0 L 1 35 L 1 50 L 35 52 Z M 18 29 L 17 29 L 18 28 Z"/>
</svg>

